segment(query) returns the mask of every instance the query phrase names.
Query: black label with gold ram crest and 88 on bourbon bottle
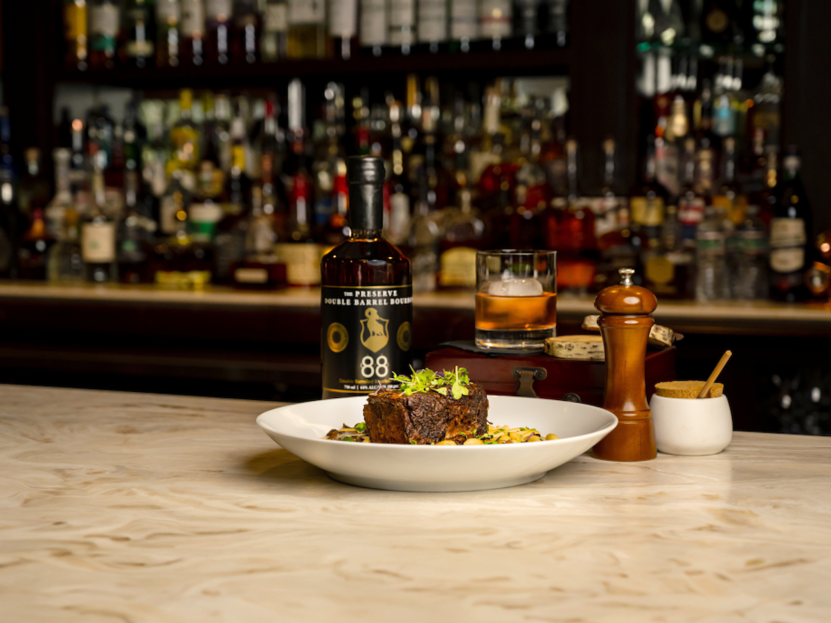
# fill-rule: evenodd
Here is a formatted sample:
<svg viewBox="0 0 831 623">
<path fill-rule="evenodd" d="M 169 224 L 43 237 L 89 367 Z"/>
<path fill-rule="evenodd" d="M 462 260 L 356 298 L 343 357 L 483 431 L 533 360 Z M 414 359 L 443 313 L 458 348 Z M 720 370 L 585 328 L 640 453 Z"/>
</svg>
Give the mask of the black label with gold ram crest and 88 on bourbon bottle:
<svg viewBox="0 0 831 623">
<path fill-rule="evenodd" d="M 412 363 L 411 286 L 323 286 L 323 397 L 395 389 Z"/>
</svg>

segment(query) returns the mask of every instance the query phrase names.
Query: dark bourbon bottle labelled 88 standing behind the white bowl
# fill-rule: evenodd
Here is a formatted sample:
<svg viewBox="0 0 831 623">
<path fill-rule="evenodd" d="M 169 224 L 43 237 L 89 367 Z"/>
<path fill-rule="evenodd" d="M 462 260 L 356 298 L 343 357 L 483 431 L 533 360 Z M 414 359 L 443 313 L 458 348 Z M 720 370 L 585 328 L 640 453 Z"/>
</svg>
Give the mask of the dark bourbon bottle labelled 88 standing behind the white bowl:
<svg viewBox="0 0 831 623">
<path fill-rule="evenodd" d="M 321 262 L 323 398 L 395 388 L 412 362 L 410 260 L 381 237 L 384 161 L 347 161 L 350 238 Z"/>
</svg>

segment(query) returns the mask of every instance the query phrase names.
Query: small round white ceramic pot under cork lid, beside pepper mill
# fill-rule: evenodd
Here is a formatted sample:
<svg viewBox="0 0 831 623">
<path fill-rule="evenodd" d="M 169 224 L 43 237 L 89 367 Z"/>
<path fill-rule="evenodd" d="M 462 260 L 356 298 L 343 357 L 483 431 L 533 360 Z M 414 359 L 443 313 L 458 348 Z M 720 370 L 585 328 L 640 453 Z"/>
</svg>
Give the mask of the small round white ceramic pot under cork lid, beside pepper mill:
<svg viewBox="0 0 831 623">
<path fill-rule="evenodd" d="M 718 454 L 733 439 L 733 418 L 725 395 L 690 400 L 656 394 L 649 406 L 656 445 L 665 454 Z"/>
</svg>

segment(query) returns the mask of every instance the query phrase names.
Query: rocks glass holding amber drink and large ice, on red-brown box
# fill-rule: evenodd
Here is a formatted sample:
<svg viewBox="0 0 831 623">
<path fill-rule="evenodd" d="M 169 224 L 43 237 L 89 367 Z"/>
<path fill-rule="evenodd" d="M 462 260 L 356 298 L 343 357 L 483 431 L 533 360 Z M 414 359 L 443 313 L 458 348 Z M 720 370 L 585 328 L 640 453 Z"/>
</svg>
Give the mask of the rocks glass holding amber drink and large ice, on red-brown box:
<svg viewBox="0 0 831 623">
<path fill-rule="evenodd" d="M 476 253 L 476 346 L 543 351 L 556 328 L 556 251 Z"/>
</svg>

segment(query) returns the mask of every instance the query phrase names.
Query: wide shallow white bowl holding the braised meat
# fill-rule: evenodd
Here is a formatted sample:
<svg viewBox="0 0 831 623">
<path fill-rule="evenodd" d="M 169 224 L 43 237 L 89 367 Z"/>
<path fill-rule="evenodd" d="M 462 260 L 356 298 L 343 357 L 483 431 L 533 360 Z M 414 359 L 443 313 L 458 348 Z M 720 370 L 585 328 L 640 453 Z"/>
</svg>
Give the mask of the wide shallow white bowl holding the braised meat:
<svg viewBox="0 0 831 623">
<path fill-rule="evenodd" d="M 617 426 L 607 410 L 560 400 L 489 396 L 492 424 L 529 426 L 560 439 L 534 444 L 433 446 L 321 439 L 363 421 L 366 397 L 316 400 L 266 411 L 257 424 L 278 444 L 342 483 L 395 491 L 476 491 L 542 478 Z"/>
</svg>

